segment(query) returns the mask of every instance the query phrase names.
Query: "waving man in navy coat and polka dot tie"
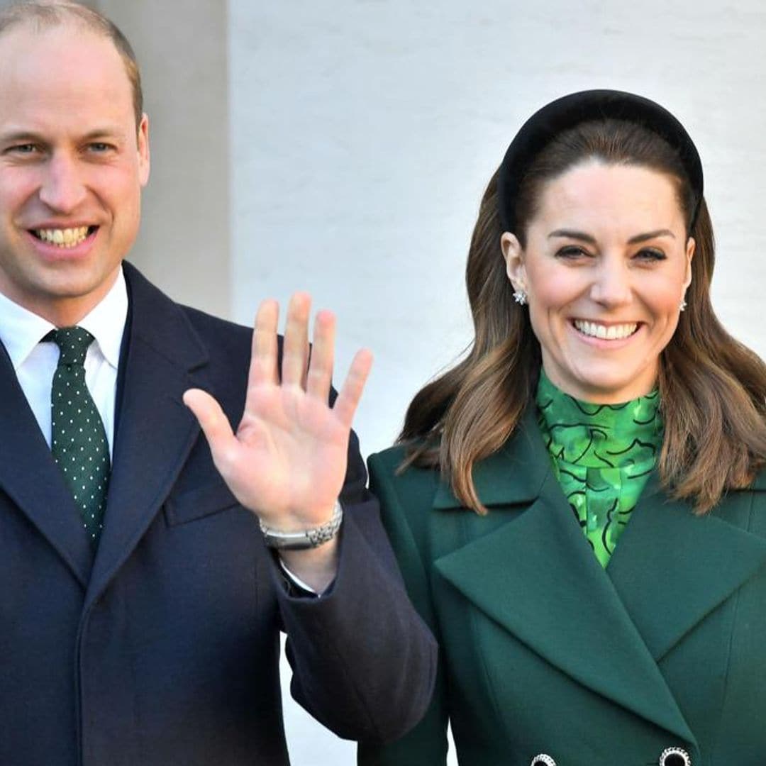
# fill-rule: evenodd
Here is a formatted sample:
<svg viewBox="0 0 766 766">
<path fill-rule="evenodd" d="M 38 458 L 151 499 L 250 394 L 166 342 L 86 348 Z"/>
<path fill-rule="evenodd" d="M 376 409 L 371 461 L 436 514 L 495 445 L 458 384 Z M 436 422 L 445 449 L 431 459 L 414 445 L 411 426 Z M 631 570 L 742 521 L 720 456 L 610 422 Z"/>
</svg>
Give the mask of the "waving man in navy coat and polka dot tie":
<svg viewBox="0 0 766 766">
<path fill-rule="evenodd" d="M 307 296 L 280 367 L 273 302 L 250 363 L 250 332 L 159 293 L 123 264 L 148 178 L 119 31 L 3 11 L 0 763 L 286 764 L 280 627 L 317 719 L 401 735 L 435 650 L 349 446 L 369 355 L 330 408 Z"/>
</svg>

